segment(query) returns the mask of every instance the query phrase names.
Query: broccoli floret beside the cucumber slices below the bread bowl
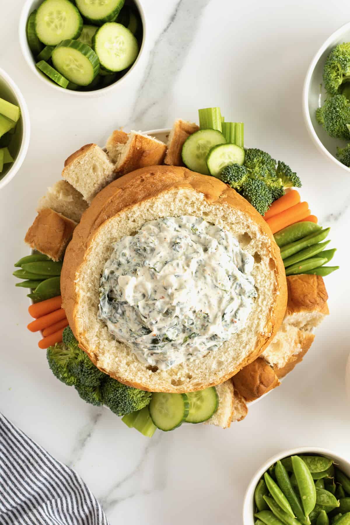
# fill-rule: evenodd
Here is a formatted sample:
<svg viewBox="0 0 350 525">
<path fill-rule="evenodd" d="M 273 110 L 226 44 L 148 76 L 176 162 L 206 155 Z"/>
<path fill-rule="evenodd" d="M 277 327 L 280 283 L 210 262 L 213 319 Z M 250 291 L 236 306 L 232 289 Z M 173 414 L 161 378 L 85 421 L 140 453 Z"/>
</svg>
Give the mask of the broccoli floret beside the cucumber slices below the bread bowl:
<svg viewBox="0 0 350 525">
<path fill-rule="evenodd" d="M 147 406 L 151 401 L 151 392 L 144 392 L 131 386 L 123 385 L 112 377 L 108 377 L 102 384 L 103 403 L 114 414 L 124 416 Z"/>
</svg>

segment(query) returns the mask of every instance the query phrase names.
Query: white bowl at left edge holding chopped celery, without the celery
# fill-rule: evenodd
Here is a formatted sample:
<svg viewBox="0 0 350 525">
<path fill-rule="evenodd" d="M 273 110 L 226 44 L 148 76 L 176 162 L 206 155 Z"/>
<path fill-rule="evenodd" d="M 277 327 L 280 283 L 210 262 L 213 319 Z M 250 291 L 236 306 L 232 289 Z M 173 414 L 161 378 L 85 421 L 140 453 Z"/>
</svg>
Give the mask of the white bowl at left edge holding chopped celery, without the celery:
<svg viewBox="0 0 350 525">
<path fill-rule="evenodd" d="M 16 131 L 10 146 L 10 153 L 14 158 L 12 164 L 4 164 L 4 169 L 0 173 L 0 190 L 13 179 L 22 165 L 28 151 L 30 137 L 30 121 L 27 104 L 22 93 L 16 86 L 15 82 L 7 73 L 0 68 L 0 97 L 19 106 L 20 119 L 16 124 Z"/>
</svg>

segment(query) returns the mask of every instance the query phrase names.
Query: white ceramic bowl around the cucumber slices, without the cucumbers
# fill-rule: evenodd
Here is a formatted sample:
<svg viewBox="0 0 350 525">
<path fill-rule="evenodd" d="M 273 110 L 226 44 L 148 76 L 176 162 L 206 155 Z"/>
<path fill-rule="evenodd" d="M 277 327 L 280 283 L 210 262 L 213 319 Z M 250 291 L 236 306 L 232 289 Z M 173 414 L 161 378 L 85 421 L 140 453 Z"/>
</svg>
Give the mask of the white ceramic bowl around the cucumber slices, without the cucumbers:
<svg viewBox="0 0 350 525">
<path fill-rule="evenodd" d="M 41 73 L 41 71 L 38 70 L 38 68 L 35 66 L 35 59 L 33 57 L 33 54 L 31 53 L 29 49 L 27 35 L 26 35 L 26 26 L 27 26 L 27 20 L 28 20 L 30 13 L 33 12 L 34 9 L 37 9 L 39 5 L 43 3 L 43 0 L 26 0 L 22 8 L 22 12 L 20 13 L 20 17 L 19 17 L 19 44 L 20 44 L 20 48 L 22 49 L 23 56 L 28 66 L 38 78 L 40 78 L 43 82 L 46 83 L 46 85 L 49 85 L 52 88 L 58 91 L 61 91 L 63 93 L 69 93 L 69 95 L 72 95 L 75 97 L 99 97 L 100 95 L 107 93 L 108 91 L 115 88 L 116 86 L 121 86 L 123 84 L 123 80 L 129 75 L 131 75 L 132 72 L 135 70 L 136 65 L 140 60 L 140 57 L 142 55 L 142 52 L 145 46 L 146 20 L 145 20 L 144 10 L 142 8 L 140 0 L 133 0 L 133 2 L 135 6 L 137 7 L 137 9 L 139 10 L 139 14 L 141 17 L 141 22 L 142 22 L 142 28 L 143 28 L 143 36 L 142 36 L 140 52 L 134 64 L 125 73 L 125 75 L 123 75 L 120 79 L 113 82 L 110 86 L 106 86 L 105 88 L 96 89 L 93 91 L 74 91 L 71 89 L 61 88 L 60 86 L 58 86 L 58 84 L 56 84 L 55 82 L 52 82 L 46 75 L 44 75 L 44 73 Z"/>
</svg>

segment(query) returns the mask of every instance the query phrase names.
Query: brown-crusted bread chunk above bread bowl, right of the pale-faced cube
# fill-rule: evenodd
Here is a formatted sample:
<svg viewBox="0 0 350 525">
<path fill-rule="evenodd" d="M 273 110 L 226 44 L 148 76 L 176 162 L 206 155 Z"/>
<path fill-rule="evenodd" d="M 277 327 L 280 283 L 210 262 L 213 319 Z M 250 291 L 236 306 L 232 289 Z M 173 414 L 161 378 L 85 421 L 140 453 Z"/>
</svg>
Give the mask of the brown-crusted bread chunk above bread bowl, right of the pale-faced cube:
<svg viewBox="0 0 350 525">
<path fill-rule="evenodd" d="M 141 167 L 163 164 L 166 145 L 164 142 L 144 135 L 137 131 L 131 131 L 128 142 L 117 143 L 111 148 L 112 138 L 106 145 L 111 158 L 115 160 L 114 171 L 118 175 L 125 175 Z"/>
</svg>

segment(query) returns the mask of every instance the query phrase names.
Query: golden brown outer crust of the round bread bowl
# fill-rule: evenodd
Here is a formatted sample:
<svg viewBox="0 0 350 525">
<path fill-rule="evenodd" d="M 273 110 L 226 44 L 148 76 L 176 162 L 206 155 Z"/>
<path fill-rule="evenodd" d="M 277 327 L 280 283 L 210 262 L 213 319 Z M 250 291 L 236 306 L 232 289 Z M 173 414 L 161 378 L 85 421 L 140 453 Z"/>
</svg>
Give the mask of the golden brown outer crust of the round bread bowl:
<svg viewBox="0 0 350 525">
<path fill-rule="evenodd" d="M 232 188 L 217 178 L 200 175 L 186 168 L 176 166 L 145 167 L 116 179 L 93 199 L 91 206 L 83 214 L 81 222 L 73 234 L 73 239 L 66 250 L 63 261 L 61 294 L 63 308 L 66 310 L 69 325 L 80 343 L 80 348 L 97 365 L 98 356 L 93 350 L 89 349 L 88 342 L 84 341 L 84 334 L 78 332 L 76 323 L 77 297 L 75 280 L 77 275 L 79 275 L 79 268 L 84 261 L 84 255 L 90 243 L 93 243 L 94 236 L 98 235 L 98 228 L 105 221 L 118 215 L 125 208 L 130 208 L 138 203 L 160 196 L 163 192 L 182 188 L 203 194 L 209 204 L 232 206 L 242 213 L 249 214 L 254 219 L 259 232 L 262 235 L 266 235 L 271 241 L 271 271 L 275 274 L 275 289 L 273 290 L 275 301 L 271 305 L 267 316 L 267 325 L 263 333 L 259 334 L 254 350 L 240 362 L 239 366 L 233 369 L 228 367 L 227 373 L 225 376 L 220 377 L 220 381 L 208 381 L 207 384 L 194 387 L 193 391 L 195 391 L 223 383 L 232 375 L 237 374 L 241 368 L 256 360 L 278 331 L 287 305 L 287 282 L 283 261 L 271 230 L 256 209 L 235 190 L 232 190 Z M 126 380 L 125 377 L 120 377 L 107 370 L 101 370 L 124 384 L 152 391 L 150 386 Z M 154 391 L 157 390 L 155 389 Z M 174 387 L 173 389 L 169 387 L 166 390 L 166 392 L 185 391 L 181 390 L 181 387 Z"/>
</svg>

